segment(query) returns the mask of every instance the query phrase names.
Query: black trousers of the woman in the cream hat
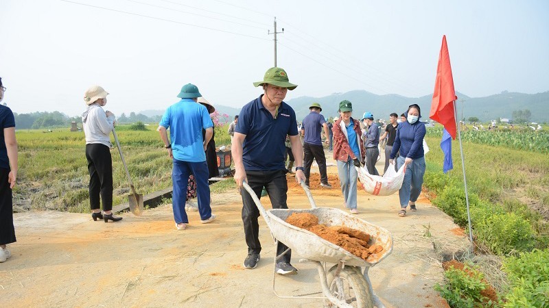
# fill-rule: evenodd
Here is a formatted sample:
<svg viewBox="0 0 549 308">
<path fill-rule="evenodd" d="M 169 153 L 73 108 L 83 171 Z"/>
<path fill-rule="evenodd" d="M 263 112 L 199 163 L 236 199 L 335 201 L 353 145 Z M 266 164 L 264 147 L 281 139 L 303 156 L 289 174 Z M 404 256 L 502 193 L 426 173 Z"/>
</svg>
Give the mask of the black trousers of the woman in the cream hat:
<svg viewBox="0 0 549 308">
<path fill-rule="evenodd" d="M 90 207 L 100 208 L 100 196 L 103 210 L 113 209 L 113 159 L 110 149 L 104 144 L 86 144 L 86 159 L 90 172 Z"/>
</svg>

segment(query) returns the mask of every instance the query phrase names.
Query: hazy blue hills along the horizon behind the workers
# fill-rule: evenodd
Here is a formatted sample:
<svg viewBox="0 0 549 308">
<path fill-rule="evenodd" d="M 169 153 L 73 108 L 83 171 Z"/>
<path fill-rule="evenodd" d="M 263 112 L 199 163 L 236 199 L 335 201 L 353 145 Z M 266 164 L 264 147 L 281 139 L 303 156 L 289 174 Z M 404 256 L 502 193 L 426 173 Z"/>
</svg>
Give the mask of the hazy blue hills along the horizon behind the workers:
<svg viewBox="0 0 549 308">
<path fill-rule="evenodd" d="M 533 122 L 549 122 L 549 91 L 524 94 L 504 91 L 500 94 L 493 94 L 489 97 L 468 97 L 459 92 L 456 93 L 458 100 L 464 99 L 462 104 L 458 101 L 458 117 L 469 118 L 476 116 L 481 121 L 498 120 L 499 118 L 512 118 L 514 110 L 528 109 L 532 113 L 530 120 Z M 389 114 L 396 112 L 401 114 L 408 109 L 409 105 L 417 104 L 421 107 L 422 119 L 429 118 L 431 109 L 432 94 L 424 97 L 402 97 L 397 94 L 377 95 L 364 90 L 354 90 L 346 93 L 334 93 L 327 97 L 297 97 L 286 103 L 290 104 L 296 111 L 297 120 L 301 122 L 309 114 L 309 104 L 320 103 L 323 107 L 322 114 L 327 118 L 338 116 L 339 102 L 347 99 L 353 103 L 353 114 L 360 117 L 366 111 L 371 112 L 375 118 L 388 118 Z M 231 118 L 240 113 L 241 108 L 215 105 L 218 112 L 229 114 Z M 164 110 L 144 110 L 139 112 L 145 116 L 161 116 Z"/>
</svg>

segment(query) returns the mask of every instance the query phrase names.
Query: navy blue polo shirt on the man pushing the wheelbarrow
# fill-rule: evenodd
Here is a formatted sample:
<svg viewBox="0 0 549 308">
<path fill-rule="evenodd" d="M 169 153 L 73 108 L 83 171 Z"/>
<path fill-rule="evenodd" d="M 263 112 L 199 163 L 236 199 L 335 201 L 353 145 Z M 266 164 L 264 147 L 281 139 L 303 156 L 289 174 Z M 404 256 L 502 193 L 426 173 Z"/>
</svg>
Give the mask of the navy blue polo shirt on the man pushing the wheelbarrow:
<svg viewBox="0 0 549 308">
<path fill-rule="evenodd" d="M 296 113 L 282 102 L 277 118 L 273 118 L 261 97 L 263 94 L 242 107 L 235 127 L 236 133 L 246 135 L 242 145 L 244 169 L 284 170 L 286 135 L 297 135 Z"/>
</svg>

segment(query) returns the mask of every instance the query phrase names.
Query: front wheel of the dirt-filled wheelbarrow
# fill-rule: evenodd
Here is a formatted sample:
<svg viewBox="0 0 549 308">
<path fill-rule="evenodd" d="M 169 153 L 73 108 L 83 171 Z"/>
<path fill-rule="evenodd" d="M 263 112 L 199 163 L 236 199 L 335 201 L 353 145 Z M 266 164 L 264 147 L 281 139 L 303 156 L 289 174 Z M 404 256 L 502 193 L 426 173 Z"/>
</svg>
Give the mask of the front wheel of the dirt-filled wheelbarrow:
<svg viewBox="0 0 549 308">
<path fill-rule="evenodd" d="M 331 294 L 351 305 L 351 307 L 373 307 L 370 289 L 360 268 L 345 266 L 341 270 L 339 277 L 334 277 L 337 269 L 338 266 L 335 265 L 329 269 L 327 274 L 327 282 Z M 327 303 L 327 305 L 331 307 L 333 304 Z"/>
</svg>

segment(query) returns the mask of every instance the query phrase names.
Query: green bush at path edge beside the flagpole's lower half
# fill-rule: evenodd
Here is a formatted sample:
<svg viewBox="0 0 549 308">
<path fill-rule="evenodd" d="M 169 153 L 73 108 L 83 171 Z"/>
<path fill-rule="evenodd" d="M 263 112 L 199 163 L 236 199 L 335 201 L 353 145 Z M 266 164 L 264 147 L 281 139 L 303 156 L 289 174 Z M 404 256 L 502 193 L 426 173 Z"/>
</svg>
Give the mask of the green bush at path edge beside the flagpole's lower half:
<svg viewBox="0 0 549 308">
<path fill-rule="evenodd" d="M 469 194 L 469 206 L 476 207 L 478 196 Z M 454 218 L 454 222 L 460 227 L 467 226 L 467 203 L 465 202 L 465 190 L 456 185 L 447 186 L 432 200 L 432 203 L 442 209 L 446 214 Z"/>
</svg>

